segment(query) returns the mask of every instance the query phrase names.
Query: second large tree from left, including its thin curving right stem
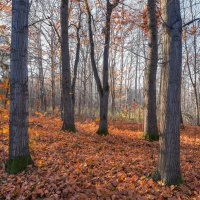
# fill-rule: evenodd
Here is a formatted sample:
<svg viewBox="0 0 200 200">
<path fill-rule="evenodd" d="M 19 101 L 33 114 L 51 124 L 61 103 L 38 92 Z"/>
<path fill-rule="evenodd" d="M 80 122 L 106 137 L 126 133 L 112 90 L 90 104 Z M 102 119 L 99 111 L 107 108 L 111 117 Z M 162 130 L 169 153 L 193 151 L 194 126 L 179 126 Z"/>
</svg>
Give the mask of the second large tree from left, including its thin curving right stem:
<svg viewBox="0 0 200 200">
<path fill-rule="evenodd" d="M 74 105 L 75 105 L 75 84 L 77 79 L 77 68 L 80 58 L 80 28 L 82 11 L 79 2 L 79 23 L 76 26 L 76 55 L 74 61 L 74 75 L 71 80 L 70 54 L 69 54 L 69 10 L 68 0 L 61 2 L 61 59 L 62 59 L 62 98 L 63 98 L 63 130 L 75 132 Z"/>
</svg>

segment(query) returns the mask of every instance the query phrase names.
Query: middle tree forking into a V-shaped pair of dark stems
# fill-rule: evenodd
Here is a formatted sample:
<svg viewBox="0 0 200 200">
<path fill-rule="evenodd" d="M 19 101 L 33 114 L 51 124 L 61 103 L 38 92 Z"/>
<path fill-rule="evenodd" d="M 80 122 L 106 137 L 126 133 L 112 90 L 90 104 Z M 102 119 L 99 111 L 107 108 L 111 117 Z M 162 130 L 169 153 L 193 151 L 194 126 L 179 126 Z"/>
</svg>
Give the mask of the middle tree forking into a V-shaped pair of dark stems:
<svg viewBox="0 0 200 200">
<path fill-rule="evenodd" d="M 110 3 L 107 0 L 106 5 L 106 25 L 104 29 L 104 53 L 103 53 L 103 84 L 98 75 L 96 60 L 95 60 L 95 48 L 93 40 L 93 31 L 92 31 L 92 15 L 89 9 L 88 1 L 85 0 L 86 9 L 88 13 L 88 29 L 89 29 L 89 39 L 90 39 L 90 57 L 91 65 L 94 72 L 94 78 L 97 84 L 99 98 L 100 98 L 100 124 L 97 134 L 107 135 L 108 134 L 108 98 L 109 98 L 109 49 L 110 49 L 110 24 L 111 24 L 111 15 L 113 9 L 118 5 L 119 0 L 115 3 Z"/>
</svg>

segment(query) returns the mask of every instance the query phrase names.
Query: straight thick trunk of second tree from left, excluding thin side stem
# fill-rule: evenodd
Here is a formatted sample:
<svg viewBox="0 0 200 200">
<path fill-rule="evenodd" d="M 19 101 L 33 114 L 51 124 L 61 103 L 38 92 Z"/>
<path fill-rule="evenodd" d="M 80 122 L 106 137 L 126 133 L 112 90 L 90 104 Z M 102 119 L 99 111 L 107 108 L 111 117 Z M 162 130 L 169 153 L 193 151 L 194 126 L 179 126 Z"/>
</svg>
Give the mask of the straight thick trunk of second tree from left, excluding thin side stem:
<svg viewBox="0 0 200 200">
<path fill-rule="evenodd" d="M 62 57 L 62 96 L 63 126 L 62 130 L 75 132 L 73 100 L 71 91 L 71 70 L 68 34 L 68 0 L 61 1 L 61 57 Z"/>
</svg>

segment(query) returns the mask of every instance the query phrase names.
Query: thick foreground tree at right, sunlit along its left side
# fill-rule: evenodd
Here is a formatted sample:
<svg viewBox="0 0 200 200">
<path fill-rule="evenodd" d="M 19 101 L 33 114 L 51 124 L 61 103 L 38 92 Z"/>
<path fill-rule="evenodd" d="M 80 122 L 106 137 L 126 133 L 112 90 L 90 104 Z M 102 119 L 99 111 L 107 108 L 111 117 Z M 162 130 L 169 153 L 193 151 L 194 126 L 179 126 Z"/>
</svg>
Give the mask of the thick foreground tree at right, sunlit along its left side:
<svg viewBox="0 0 200 200">
<path fill-rule="evenodd" d="M 167 185 L 181 182 L 180 105 L 182 19 L 179 0 L 162 0 L 163 66 L 158 177 Z M 154 177 L 155 178 L 155 177 Z"/>
</svg>

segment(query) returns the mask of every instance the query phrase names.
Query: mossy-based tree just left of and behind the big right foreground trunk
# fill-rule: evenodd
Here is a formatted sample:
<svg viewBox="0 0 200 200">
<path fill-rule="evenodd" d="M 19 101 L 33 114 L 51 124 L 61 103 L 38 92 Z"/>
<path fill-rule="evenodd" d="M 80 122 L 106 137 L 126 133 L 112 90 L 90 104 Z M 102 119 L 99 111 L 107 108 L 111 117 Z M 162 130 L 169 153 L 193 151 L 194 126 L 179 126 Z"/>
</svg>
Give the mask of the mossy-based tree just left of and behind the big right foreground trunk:
<svg viewBox="0 0 200 200">
<path fill-rule="evenodd" d="M 144 137 L 148 140 L 158 139 L 156 116 L 156 72 L 158 63 L 158 30 L 156 0 L 148 0 L 148 61 L 144 81 Z"/>
</svg>

